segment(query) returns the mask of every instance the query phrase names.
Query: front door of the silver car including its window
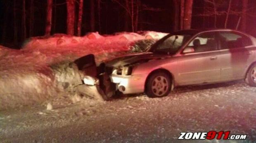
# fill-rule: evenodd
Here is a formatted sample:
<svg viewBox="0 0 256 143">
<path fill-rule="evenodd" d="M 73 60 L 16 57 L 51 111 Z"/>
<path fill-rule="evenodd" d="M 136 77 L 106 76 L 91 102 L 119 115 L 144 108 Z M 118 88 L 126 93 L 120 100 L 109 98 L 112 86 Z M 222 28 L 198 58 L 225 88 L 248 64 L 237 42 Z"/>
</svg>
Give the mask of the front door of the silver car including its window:
<svg viewBox="0 0 256 143">
<path fill-rule="evenodd" d="M 200 84 L 218 81 L 220 67 L 216 32 L 197 35 L 186 46 L 194 48 L 192 53 L 181 53 L 177 59 L 179 85 Z"/>
</svg>

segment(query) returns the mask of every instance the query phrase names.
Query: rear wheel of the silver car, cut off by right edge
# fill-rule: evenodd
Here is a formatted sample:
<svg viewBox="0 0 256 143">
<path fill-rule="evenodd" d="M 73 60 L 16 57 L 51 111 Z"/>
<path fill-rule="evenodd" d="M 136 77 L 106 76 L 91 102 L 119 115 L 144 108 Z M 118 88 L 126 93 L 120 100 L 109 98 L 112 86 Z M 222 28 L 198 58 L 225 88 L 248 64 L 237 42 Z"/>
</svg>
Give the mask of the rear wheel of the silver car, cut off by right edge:
<svg viewBox="0 0 256 143">
<path fill-rule="evenodd" d="M 256 63 L 251 65 L 247 71 L 245 82 L 252 87 L 256 87 Z"/>
</svg>

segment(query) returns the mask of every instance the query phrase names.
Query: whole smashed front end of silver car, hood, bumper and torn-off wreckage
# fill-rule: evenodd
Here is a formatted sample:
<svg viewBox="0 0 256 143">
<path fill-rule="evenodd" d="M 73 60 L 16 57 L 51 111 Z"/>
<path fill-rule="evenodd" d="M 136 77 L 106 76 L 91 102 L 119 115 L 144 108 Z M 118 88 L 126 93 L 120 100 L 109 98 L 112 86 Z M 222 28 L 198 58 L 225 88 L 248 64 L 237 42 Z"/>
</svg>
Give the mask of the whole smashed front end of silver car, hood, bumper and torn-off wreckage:
<svg viewBox="0 0 256 143">
<path fill-rule="evenodd" d="M 123 94 L 144 92 L 150 70 L 145 71 L 141 65 L 168 57 L 149 52 L 133 53 L 96 66 L 94 55 L 91 54 L 77 59 L 75 63 L 78 65 L 78 69 L 86 75 L 83 77 L 84 83 L 97 86 L 101 96 L 108 100 L 116 92 Z"/>
</svg>

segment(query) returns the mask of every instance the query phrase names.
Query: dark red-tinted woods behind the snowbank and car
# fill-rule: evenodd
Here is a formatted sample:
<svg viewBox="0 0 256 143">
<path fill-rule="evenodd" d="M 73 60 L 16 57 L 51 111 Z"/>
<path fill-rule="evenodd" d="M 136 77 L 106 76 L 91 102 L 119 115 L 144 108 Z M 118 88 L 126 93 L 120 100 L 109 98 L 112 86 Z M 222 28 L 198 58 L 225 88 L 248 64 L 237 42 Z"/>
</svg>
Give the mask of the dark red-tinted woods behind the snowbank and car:
<svg viewBox="0 0 256 143">
<path fill-rule="evenodd" d="M 83 36 L 189 28 L 232 28 L 256 36 L 255 0 L 1 0 L 0 41 L 55 33 Z"/>
</svg>

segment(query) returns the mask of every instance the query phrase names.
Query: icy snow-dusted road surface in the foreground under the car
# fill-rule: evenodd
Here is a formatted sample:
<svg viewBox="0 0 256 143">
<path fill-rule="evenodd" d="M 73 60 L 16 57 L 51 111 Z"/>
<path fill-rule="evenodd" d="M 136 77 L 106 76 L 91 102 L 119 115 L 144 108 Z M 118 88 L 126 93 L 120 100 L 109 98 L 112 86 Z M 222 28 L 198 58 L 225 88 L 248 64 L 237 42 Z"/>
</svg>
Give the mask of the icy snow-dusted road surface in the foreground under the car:
<svg viewBox="0 0 256 143">
<path fill-rule="evenodd" d="M 164 98 L 122 96 L 113 101 L 65 97 L 0 111 L 2 143 L 255 143 L 256 88 L 245 83 L 181 87 Z M 231 131 L 247 141 L 177 140 L 183 131 Z"/>
</svg>

